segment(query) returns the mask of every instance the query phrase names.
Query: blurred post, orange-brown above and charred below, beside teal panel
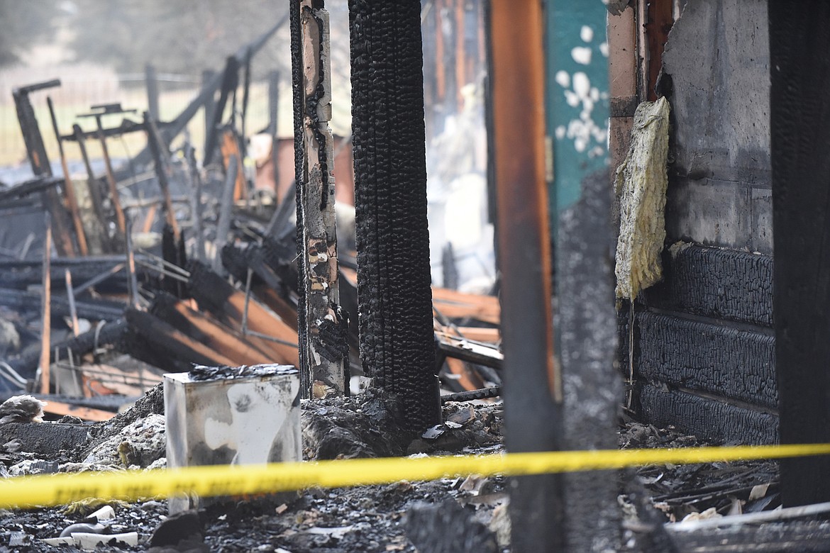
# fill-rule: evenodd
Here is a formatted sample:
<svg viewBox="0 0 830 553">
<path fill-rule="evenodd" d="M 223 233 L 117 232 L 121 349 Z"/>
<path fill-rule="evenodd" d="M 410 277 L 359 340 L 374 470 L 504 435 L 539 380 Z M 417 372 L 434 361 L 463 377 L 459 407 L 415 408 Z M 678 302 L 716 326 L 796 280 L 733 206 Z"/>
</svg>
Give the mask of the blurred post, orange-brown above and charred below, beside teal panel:
<svg viewBox="0 0 830 553">
<path fill-rule="evenodd" d="M 494 0 L 488 15 L 505 445 L 510 452 L 554 451 L 562 449 L 562 388 L 550 307 L 542 14 L 534 0 Z M 560 480 L 541 475 L 511 481 L 514 551 L 565 551 Z"/>
</svg>

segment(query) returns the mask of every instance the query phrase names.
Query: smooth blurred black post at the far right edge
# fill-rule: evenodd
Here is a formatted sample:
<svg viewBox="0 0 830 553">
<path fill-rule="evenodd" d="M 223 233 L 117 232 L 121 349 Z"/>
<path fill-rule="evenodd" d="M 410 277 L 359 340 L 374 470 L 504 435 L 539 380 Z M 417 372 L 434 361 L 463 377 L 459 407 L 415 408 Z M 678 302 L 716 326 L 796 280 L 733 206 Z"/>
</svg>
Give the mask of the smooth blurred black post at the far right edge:
<svg viewBox="0 0 830 553">
<path fill-rule="evenodd" d="M 775 370 L 782 444 L 830 442 L 830 4 L 769 0 Z M 784 505 L 830 501 L 830 457 L 781 461 Z"/>
</svg>

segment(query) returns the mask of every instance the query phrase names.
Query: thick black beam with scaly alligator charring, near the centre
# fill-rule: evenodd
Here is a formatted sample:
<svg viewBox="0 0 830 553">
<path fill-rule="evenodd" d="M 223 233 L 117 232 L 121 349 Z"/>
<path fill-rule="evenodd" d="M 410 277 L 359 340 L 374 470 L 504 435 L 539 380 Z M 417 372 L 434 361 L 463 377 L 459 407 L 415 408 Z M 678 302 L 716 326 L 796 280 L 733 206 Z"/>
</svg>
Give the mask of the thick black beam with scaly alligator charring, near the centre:
<svg viewBox="0 0 830 553">
<path fill-rule="evenodd" d="M 432 334 L 421 2 L 349 0 L 360 357 L 411 429 L 441 419 Z"/>
</svg>

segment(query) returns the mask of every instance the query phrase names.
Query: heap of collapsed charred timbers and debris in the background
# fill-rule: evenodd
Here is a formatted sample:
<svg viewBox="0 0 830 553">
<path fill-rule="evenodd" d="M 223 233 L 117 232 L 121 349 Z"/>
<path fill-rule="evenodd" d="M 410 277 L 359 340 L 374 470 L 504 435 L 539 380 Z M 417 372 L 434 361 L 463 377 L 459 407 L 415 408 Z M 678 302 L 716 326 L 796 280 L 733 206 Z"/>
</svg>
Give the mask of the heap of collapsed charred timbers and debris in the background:
<svg viewBox="0 0 830 553">
<path fill-rule="evenodd" d="M 51 419 L 105 420 L 165 372 L 190 371 L 194 363 L 300 366 L 295 187 L 279 197 L 276 183 L 248 174 L 250 137 L 235 116 L 246 109 L 251 56 L 283 23 L 231 56 L 171 121 L 100 104 L 79 114 L 66 133 L 47 98 L 61 177 L 52 174 L 32 108 L 36 93 L 60 81 L 15 91 L 36 177 L 0 191 L 4 209 L 29 212 L 25 221 L 0 221 L 4 240 L 23 236 L 0 256 L 0 398 L 32 392 L 46 401 Z M 243 89 L 240 105 L 237 88 Z M 178 135 L 202 109 L 212 125 L 199 148 Z M 84 121 L 92 126 L 82 128 Z M 143 133 L 147 146 L 116 167 L 106 145 L 125 133 Z M 86 154 L 90 140 L 103 148 L 102 171 L 93 170 L 100 163 Z M 63 147 L 70 142 L 81 149 L 83 176 L 67 167 Z M 261 193 L 269 186 L 274 193 Z M 339 207 L 339 226 L 354 229 L 349 207 Z M 53 247 L 40 238 L 46 227 Z M 364 380 L 354 234 L 341 237 L 337 256 L 348 331 L 348 351 L 338 355 L 348 360 L 354 392 Z M 499 386 L 496 298 L 450 289 L 433 289 L 433 296 L 437 372 L 445 391 Z M 326 328 L 320 326 L 321 337 Z M 310 390 L 315 397 L 335 391 L 323 381 Z"/>
</svg>

